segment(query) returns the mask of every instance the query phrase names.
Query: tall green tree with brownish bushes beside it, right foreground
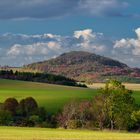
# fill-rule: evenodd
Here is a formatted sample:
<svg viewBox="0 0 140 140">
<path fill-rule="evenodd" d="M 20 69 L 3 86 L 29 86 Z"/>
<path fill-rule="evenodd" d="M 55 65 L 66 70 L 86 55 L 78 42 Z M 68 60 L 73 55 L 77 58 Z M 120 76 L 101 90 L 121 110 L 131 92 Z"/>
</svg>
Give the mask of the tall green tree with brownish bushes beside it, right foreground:
<svg viewBox="0 0 140 140">
<path fill-rule="evenodd" d="M 110 80 L 92 100 L 66 104 L 58 120 L 64 128 L 140 131 L 140 105 L 131 90 Z"/>
</svg>

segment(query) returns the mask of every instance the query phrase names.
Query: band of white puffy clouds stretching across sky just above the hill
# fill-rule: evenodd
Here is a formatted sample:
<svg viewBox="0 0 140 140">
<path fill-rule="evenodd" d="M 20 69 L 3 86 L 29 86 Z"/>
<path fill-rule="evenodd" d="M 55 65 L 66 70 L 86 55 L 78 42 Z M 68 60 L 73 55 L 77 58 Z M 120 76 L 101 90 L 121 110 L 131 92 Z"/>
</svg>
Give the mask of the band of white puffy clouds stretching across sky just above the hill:
<svg viewBox="0 0 140 140">
<path fill-rule="evenodd" d="M 69 51 L 89 51 L 140 67 L 140 28 L 136 38 L 113 40 L 92 29 L 74 31 L 72 36 L 54 34 L 0 35 L 0 65 L 22 66 L 54 58 Z"/>
</svg>

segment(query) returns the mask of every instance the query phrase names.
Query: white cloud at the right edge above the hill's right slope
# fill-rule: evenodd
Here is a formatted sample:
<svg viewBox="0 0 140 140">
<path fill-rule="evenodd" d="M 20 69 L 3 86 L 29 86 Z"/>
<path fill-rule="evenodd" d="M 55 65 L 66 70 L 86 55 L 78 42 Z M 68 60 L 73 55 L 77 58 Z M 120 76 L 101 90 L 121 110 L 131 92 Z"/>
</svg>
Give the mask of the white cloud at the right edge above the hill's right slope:
<svg viewBox="0 0 140 140">
<path fill-rule="evenodd" d="M 137 38 L 123 38 L 117 40 L 113 47 L 113 53 L 132 66 L 140 67 L 140 28 L 135 30 Z"/>
</svg>

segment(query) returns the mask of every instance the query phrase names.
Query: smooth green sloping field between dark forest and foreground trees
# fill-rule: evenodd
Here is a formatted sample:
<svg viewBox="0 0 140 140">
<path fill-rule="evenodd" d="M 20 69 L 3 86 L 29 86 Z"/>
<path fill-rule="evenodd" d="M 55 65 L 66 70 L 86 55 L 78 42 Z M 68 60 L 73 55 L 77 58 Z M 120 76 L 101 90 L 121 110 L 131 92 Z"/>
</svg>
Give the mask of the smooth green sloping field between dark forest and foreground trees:
<svg viewBox="0 0 140 140">
<path fill-rule="evenodd" d="M 60 85 L 50 85 L 35 82 L 24 82 L 14 80 L 0 80 L 0 102 L 8 97 L 18 100 L 32 96 L 39 106 L 43 106 L 47 111 L 55 112 L 73 99 L 90 99 L 97 93 L 97 90 L 67 87 Z"/>
</svg>

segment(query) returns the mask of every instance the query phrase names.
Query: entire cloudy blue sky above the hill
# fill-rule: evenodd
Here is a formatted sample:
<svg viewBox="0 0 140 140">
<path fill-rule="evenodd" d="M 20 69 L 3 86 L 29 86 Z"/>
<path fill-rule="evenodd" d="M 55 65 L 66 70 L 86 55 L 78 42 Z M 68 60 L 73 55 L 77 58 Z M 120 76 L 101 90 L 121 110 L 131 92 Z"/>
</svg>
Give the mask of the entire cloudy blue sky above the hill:
<svg viewBox="0 0 140 140">
<path fill-rule="evenodd" d="M 0 1 L 0 65 L 88 51 L 140 68 L 140 0 Z"/>
</svg>

